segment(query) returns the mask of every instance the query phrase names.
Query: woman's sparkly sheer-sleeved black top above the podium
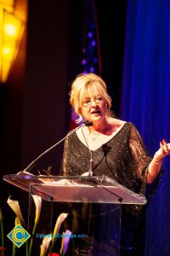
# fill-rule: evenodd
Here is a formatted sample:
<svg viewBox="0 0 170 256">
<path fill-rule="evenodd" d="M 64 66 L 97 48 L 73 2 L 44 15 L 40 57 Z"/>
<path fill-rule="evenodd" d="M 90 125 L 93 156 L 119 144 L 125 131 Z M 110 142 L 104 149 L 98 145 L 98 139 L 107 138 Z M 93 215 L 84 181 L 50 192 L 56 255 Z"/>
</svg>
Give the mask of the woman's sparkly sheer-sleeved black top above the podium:
<svg viewBox="0 0 170 256">
<path fill-rule="evenodd" d="M 92 155 L 95 176 L 105 175 L 136 193 L 144 192 L 147 166 L 151 158 L 133 124 L 123 125 L 115 137 L 92 151 Z M 74 132 L 65 140 L 61 174 L 82 175 L 89 171 L 89 162 L 89 150 Z"/>
</svg>

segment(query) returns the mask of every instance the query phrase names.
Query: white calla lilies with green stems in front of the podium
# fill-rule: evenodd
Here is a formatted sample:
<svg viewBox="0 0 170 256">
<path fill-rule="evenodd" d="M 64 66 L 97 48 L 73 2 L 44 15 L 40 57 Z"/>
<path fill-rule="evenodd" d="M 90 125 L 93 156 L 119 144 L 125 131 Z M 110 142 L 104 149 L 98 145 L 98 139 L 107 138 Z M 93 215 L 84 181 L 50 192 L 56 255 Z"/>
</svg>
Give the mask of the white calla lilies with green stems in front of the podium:
<svg viewBox="0 0 170 256">
<path fill-rule="evenodd" d="M 41 209 L 42 209 L 42 198 L 39 195 L 31 195 L 36 207 L 36 212 L 35 212 L 35 220 L 34 220 L 34 227 L 32 230 L 32 236 L 31 236 L 31 241 L 30 241 L 30 247 L 28 249 L 28 243 L 26 241 L 26 256 L 31 256 L 31 251 L 32 251 L 32 245 L 33 245 L 33 237 L 35 235 L 36 229 L 37 229 L 37 224 L 39 223 L 39 219 L 41 216 Z M 16 217 L 14 224 L 17 226 L 20 224 L 23 227 L 26 227 L 24 218 L 22 217 L 22 213 L 20 211 L 20 204 L 19 201 L 14 201 L 10 199 L 11 196 L 8 197 L 8 206 L 14 211 Z M 56 241 L 57 235 L 59 234 L 59 230 L 61 227 L 61 224 L 64 222 L 65 218 L 67 218 L 68 213 L 62 212 L 59 214 L 59 217 L 56 220 L 55 226 L 54 226 L 54 233 L 46 235 L 43 240 L 42 240 L 42 245 L 40 246 L 40 256 L 45 256 L 48 252 L 50 251 L 49 255 L 58 255 L 58 256 L 64 256 L 68 244 L 71 238 L 71 231 L 66 230 L 62 235 L 62 241 L 61 241 L 61 247 L 59 250 L 59 253 L 53 253 L 54 249 L 54 243 Z M 3 234 L 3 214 L 1 212 L 0 208 L 0 224 L 1 224 L 1 237 L 2 237 L 2 256 L 4 256 L 4 234 Z M 50 246 L 51 244 L 51 246 Z M 50 248 L 49 248 L 50 247 Z M 16 253 L 16 246 L 13 244 L 13 256 Z"/>
</svg>

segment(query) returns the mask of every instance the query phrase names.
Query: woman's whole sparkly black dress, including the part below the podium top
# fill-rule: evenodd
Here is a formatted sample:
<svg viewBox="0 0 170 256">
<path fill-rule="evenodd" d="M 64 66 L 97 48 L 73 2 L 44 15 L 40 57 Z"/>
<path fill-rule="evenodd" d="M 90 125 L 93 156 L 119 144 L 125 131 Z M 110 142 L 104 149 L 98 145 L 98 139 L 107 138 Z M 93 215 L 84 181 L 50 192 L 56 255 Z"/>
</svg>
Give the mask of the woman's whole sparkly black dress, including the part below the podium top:
<svg viewBox="0 0 170 256">
<path fill-rule="evenodd" d="M 115 179 L 127 189 L 145 195 L 151 157 L 135 125 L 125 123 L 110 141 L 92 151 L 95 176 Z M 90 153 L 74 132 L 65 140 L 60 175 L 77 176 L 89 171 Z M 121 247 L 142 247 L 144 206 L 122 206 Z M 123 254 L 122 254 L 123 255 Z"/>
</svg>

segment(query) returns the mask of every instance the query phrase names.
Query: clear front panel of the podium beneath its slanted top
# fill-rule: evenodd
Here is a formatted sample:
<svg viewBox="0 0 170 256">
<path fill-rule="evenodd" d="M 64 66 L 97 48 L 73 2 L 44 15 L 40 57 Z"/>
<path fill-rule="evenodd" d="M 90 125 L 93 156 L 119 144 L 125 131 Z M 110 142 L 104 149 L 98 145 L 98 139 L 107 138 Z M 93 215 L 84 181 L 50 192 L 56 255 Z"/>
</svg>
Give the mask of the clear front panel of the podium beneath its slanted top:
<svg viewBox="0 0 170 256">
<path fill-rule="evenodd" d="M 55 253 L 59 253 L 63 232 L 71 230 L 69 247 L 65 256 L 118 256 L 121 210 L 122 204 L 91 203 L 87 200 L 82 202 L 59 202 L 42 199 L 41 217 L 34 236 L 34 252 L 35 250 L 37 252 L 35 255 L 39 255 L 42 236 L 53 234 L 54 225 L 59 214 L 65 212 L 68 214 L 67 218 L 61 225 L 59 233 L 54 234 L 58 237 L 56 247 L 54 247 Z M 30 196 L 29 233 L 33 230 L 34 225 L 32 212 L 35 212 L 35 206 Z"/>
</svg>

